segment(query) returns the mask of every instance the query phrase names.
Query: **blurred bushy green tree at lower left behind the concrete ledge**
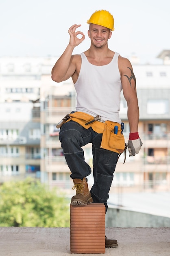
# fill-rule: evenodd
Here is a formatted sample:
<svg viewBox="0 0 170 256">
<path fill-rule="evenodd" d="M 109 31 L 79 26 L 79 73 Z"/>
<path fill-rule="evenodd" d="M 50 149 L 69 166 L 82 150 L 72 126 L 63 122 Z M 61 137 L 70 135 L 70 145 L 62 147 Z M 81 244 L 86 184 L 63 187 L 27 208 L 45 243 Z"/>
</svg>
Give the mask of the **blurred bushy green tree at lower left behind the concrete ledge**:
<svg viewBox="0 0 170 256">
<path fill-rule="evenodd" d="M 1 227 L 69 227 L 69 202 L 32 179 L 0 186 Z"/>
</svg>

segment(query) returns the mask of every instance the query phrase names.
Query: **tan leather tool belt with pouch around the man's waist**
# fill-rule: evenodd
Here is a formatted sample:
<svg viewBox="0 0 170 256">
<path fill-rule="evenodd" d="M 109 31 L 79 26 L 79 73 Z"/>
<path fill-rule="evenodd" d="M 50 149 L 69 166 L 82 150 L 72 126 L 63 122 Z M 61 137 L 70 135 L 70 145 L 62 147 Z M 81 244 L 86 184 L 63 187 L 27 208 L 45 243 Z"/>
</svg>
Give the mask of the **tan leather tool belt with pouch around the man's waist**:
<svg viewBox="0 0 170 256">
<path fill-rule="evenodd" d="M 124 141 L 124 135 L 122 134 L 121 125 L 119 123 L 112 121 L 102 122 L 100 121 L 100 116 L 93 117 L 84 112 L 71 112 L 66 115 L 56 127 L 60 128 L 65 122 L 70 120 L 77 122 L 85 129 L 92 127 L 95 132 L 102 133 L 100 148 L 116 152 L 119 156 L 126 150 L 127 147 Z"/>
</svg>

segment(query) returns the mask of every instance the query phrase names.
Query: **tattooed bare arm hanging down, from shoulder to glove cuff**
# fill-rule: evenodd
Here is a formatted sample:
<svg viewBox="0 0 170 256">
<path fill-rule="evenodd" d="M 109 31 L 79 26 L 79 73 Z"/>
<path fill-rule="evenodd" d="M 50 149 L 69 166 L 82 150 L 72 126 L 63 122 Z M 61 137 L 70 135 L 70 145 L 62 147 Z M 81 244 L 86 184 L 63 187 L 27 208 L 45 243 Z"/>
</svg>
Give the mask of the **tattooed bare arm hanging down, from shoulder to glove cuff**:
<svg viewBox="0 0 170 256">
<path fill-rule="evenodd" d="M 136 79 L 130 61 L 126 58 L 119 58 L 119 67 L 124 98 L 127 101 L 130 132 L 138 131 L 139 107 L 136 93 Z"/>
</svg>

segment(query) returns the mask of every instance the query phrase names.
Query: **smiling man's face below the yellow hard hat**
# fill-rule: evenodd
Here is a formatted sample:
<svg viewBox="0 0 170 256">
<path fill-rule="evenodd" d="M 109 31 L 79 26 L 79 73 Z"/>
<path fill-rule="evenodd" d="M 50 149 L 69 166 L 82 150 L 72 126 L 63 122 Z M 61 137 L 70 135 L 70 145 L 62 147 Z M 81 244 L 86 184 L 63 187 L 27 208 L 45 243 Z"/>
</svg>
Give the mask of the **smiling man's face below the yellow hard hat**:
<svg viewBox="0 0 170 256">
<path fill-rule="evenodd" d="M 112 32 L 107 27 L 92 23 L 89 25 L 88 36 L 96 48 L 102 48 L 106 45 L 108 39 L 111 38 L 111 34 Z"/>
</svg>

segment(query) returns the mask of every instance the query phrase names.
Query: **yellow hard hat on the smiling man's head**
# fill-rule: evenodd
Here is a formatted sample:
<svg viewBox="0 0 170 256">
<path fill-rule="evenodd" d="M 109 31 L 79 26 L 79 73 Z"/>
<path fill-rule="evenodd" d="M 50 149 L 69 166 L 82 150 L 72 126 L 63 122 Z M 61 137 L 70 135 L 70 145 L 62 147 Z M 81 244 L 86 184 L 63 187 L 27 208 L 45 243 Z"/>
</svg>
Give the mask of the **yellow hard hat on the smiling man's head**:
<svg viewBox="0 0 170 256">
<path fill-rule="evenodd" d="M 108 29 L 114 30 L 114 18 L 109 11 L 100 10 L 95 11 L 92 16 L 87 20 L 87 23 L 93 23 L 100 25 L 102 27 L 107 27 Z"/>
</svg>

